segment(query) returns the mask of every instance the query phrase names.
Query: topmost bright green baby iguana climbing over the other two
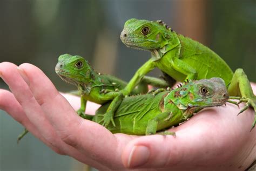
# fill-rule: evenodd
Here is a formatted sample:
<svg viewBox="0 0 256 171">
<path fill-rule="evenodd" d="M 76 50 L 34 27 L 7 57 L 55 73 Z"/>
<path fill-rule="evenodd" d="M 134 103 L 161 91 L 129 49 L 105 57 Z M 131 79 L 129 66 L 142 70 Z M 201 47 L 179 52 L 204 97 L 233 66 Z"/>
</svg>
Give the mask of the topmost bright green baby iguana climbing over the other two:
<svg viewBox="0 0 256 171">
<path fill-rule="evenodd" d="M 233 73 L 218 54 L 195 40 L 179 35 L 161 20 L 129 19 L 120 38 L 127 47 L 151 52 L 151 59 L 139 68 L 122 90 L 124 95 L 129 94 L 139 80 L 155 67 L 177 81 L 220 77 L 224 79 L 230 95 L 239 96 L 240 102 L 246 102 L 245 108 L 239 113 L 249 106 L 254 108 L 252 128 L 255 126 L 256 97 L 242 69 Z"/>
</svg>

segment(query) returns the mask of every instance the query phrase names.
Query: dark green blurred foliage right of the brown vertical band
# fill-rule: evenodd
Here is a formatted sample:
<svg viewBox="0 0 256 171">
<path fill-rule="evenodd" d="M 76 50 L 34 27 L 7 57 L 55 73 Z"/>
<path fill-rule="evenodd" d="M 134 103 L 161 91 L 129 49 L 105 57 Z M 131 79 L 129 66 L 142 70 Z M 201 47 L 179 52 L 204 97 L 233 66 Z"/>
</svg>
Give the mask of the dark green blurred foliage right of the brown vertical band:
<svg viewBox="0 0 256 171">
<path fill-rule="evenodd" d="M 211 48 L 256 82 L 256 1 L 211 1 Z"/>
</svg>

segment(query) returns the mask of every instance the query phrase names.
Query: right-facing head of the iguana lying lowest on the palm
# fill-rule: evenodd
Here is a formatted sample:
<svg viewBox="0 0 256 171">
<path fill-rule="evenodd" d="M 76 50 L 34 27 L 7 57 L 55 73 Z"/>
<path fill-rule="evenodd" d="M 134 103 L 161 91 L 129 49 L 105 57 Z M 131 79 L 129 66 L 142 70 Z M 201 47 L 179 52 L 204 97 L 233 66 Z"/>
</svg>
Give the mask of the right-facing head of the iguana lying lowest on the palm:
<svg viewBox="0 0 256 171">
<path fill-rule="evenodd" d="M 227 102 L 228 92 L 221 78 L 201 79 L 184 83 L 169 98 L 180 109 L 220 106 Z"/>
</svg>

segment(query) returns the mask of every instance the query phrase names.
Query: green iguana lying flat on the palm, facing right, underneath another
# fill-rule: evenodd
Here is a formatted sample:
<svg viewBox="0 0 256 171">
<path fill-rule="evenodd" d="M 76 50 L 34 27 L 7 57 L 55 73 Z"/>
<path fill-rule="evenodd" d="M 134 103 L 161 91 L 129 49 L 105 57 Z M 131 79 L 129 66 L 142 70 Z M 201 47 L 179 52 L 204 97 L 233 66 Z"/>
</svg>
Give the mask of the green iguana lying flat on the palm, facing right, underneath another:
<svg viewBox="0 0 256 171">
<path fill-rule="evenodd" d="M 227 100 L 227 89 L 221 78 L 187 81 L 172 91 L 124 98 L 114 114 L 116 126 L 110 124 L 106 128 L 112 133 L 156 134 L 157 131 L 187 120 L 204 107 L 220 106 Z M 92 120 L 102 120 L 109 105 L 102 105 Z"/>
</svg>

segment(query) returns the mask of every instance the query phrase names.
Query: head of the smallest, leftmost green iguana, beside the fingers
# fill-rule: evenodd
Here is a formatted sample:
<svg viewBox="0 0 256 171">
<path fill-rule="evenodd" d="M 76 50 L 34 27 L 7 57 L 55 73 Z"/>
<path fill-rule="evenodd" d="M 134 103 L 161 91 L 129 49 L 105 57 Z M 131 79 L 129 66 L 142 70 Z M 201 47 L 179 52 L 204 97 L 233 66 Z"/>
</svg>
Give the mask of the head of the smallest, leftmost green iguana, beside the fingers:
<svg viewBox="0 0 256 171">
<path fill-rule="evenodd" d="M 92 69 L 83 57 L 62 54 L 55 66 L 55 72 L 67 83 L 78 85 L 91 81 Z"/>
</svg>

